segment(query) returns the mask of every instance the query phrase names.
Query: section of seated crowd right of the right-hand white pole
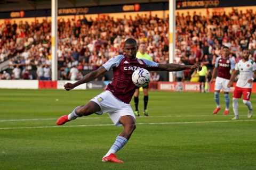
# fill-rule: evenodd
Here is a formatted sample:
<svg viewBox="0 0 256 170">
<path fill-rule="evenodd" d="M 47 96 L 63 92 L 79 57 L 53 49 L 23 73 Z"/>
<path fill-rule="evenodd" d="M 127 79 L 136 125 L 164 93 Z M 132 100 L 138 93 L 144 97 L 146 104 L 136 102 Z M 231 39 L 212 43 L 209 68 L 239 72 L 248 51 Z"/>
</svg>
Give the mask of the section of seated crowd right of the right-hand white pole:
<svg viewBox="0 0 256 170">
<path fill-rule="evenodd" d="M 221 47 L 230 49 L 230 58 L 236 62 L 242 58 L 242 50 L 249 49 L 251 59 L 256 60 L 255 12 L 246 10 L 213 12 L 201 15 L 177 13 L 176 16 L 175 62 L 184 64 L 203 63 L 209 69 L 208 77 L 221 53 Z M 185 72 L 185 79 L 191 72 Z"/>
</svg>

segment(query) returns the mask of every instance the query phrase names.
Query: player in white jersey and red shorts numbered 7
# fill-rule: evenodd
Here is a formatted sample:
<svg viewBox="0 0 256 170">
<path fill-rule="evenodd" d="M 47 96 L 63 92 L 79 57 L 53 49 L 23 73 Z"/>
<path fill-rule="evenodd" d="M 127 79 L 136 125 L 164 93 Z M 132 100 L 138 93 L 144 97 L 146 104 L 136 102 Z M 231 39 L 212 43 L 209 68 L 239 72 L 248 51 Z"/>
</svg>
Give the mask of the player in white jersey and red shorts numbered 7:
<svg viewBox="0 0 256 170">
<path fill-rule="evenodd" d="M 249 50 L 243 50 L 243 59 L 239 60 L 236 64 L 235 71 L 231 75 L 230 82 L 228 83 L 228 87 L 231 87 L 238 72 L 239 77 L 236 83 L 236 87 L 233 94 L 233 111 L 235 117 L 231 120 L 238 120 L 238 99 L 241 98 L 243 94 L 243 103 L 248 107 L 249 111 L 247 113 L 247 117 L 252 117 L 252 103 L 250 101 L 250 96 L 252 93 L 252 83 L 256 78 L 256 64 L 254 61 L 249 60 Z"/>
</svg>

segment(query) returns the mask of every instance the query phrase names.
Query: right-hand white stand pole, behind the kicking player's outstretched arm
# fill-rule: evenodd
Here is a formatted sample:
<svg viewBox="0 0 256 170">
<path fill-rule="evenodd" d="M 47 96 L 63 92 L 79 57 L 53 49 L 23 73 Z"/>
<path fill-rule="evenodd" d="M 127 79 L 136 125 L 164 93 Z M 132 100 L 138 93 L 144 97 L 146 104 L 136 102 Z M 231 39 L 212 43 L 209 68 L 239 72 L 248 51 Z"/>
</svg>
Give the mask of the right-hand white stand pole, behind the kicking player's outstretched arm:
<svg viewBox="0 0 256 170">
<path fill-rule="evenodd" d="M 169 63 L 173 63 L 175 55 L 175 1 L 169 0 Z M 169 81 L 173 81 L 172 72 L 169 72 Z"/>
</svg>

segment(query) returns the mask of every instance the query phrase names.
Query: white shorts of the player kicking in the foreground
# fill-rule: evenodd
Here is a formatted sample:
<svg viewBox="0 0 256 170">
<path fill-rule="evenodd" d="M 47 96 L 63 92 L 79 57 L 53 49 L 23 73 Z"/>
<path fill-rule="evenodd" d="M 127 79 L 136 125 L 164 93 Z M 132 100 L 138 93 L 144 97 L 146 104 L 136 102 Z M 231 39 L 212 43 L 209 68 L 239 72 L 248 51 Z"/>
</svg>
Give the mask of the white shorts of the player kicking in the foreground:
<svg viewBox="0 0 256 170">
<path fill-rule="evenodd" d="M 103 91 L 98 96 L 92 98 L 91 101 L 97 103 L 101 108 L 101 111 L 97 112 L 96 114 L 101 115 L 103 113 L 108 113 L 112 122 L 116 126 L 122 125 L 121 123 L 119 123 L 119 120 L 122 116 L 130 115 L 134 118 L 134 120 L 136 120 L 131 105 L 117 99 L 108 90 Z"/>
</svg>

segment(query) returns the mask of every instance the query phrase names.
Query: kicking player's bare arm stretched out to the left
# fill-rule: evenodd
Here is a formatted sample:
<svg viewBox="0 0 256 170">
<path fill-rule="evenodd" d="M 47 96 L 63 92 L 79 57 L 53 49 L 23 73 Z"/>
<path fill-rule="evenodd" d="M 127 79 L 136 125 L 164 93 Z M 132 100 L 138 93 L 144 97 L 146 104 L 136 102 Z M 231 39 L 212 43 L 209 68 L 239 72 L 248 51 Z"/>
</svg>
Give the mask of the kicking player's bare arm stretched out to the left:
<svg viewBox="0 0 256 170">
<path fill-rule="evenodd" d="M 81 80 L 78 80 L 75 83 L 66 83 L 64 85 L 64 87 L 67 91 L 72 90 L 75 87 L 79 86 L 80 84 L 87 83 L 89 81 L 92 81 L 92 80 L 100 77 L 100 75 L 103 75 L 106 72 L 107 72 L 107 70 L 105 69 L 105 67 L 101 66 L 101 67 L 99 67 L 99 69 L 86 74 Z"/>
</svg>

